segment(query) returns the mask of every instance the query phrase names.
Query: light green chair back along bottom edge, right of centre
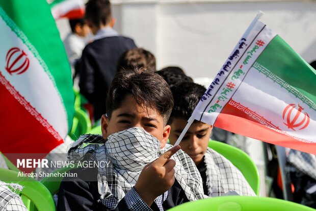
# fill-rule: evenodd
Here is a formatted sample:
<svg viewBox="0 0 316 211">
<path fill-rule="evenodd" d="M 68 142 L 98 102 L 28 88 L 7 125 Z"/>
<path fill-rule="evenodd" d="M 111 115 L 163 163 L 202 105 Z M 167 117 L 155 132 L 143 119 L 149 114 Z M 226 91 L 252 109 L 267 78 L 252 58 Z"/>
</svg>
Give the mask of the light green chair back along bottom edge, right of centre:
<svg viewBox="0 0 316 211">
<path fill-rule="evenodd" d="M 187 202 L 168 211 L 315 211 L 302 204 L 257 196 L 220 196 Z"/>
</svg>

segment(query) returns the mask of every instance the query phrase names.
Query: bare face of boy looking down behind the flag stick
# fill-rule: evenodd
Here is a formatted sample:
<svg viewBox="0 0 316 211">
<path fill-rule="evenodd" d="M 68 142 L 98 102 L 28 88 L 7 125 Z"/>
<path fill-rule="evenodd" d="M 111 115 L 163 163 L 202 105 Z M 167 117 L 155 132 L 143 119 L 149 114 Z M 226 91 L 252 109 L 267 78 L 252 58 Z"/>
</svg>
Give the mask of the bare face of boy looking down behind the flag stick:
<svg viewBox="0 0 316 211">
<path fill-rule="evenodd" d="M 185 119 L 173 119 L 169 136 L 170 144 L 175 144 L 187 123 L 188 122 Z M 180 142 L 181 149 L 193 159 L 196 165 L 203 159 L 212 129 L 213 126 L 208 124 L 194 122 Z"/>
</svg>

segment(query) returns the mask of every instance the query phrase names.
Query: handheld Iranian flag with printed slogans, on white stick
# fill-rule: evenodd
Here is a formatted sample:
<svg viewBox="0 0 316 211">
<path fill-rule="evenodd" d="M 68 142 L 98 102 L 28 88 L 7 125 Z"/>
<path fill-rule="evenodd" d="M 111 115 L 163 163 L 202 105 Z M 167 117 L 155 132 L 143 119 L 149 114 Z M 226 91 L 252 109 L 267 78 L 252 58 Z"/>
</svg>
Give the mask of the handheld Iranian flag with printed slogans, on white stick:
<svg viewBox="0 0 316 211">
<path fill-rule="evenodd" d="M 316 71 L 258 21 L 260 15 L 204 93 L 188 125 L 196 119 L 316 154 Z"/>
</svg>

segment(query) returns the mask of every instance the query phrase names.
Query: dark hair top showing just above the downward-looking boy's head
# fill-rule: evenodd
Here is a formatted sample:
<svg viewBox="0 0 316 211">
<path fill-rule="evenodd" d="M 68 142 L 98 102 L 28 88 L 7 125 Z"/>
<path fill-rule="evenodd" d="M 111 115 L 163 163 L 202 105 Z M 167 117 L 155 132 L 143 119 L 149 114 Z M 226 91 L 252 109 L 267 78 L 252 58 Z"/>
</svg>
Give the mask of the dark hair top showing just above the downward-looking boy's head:
<svg viewBox="0 0 316 211">
<path fill-rule="evenodd" d="M 180 82 L 193 82 L 193 79 L 187 76 L 185 72 L 177 66 L 165 67 L 157 71 L 157 74 L 161 75 L 167 81 L 170 88 Z"/>
</svg>

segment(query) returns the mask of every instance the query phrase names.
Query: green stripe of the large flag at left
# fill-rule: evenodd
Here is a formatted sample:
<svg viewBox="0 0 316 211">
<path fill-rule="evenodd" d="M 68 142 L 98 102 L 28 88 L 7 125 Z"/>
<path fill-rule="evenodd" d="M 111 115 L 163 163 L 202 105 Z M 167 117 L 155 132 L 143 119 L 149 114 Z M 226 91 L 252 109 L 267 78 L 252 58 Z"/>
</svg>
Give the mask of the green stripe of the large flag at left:
<svg viewBox="0 0 316 211">
<path fill-rule="evenodd" d="M 50 7 L 46 1 L 42 0 L 32 2 L 0 0 L 0 7 L 31 42 L 41 59 L 45 61 L 49 71 L 46 73 L 53 80 L 62 98 L 70 131 L 74 114 L 71 69 L 55 20 L 50 13 Z M 10 27 L 14 30 L 13 26 Z"/>
</svg>

